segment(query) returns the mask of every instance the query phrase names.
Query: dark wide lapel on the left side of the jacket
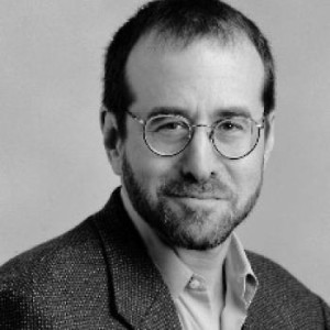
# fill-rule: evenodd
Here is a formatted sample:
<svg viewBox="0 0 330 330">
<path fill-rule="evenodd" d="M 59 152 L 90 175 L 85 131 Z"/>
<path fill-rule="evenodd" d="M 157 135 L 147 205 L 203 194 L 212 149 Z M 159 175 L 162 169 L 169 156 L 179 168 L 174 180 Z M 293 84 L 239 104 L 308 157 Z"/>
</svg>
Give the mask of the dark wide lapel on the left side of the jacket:
<svg viewBox="0 0 330 330">
<path fill-rule="evenodd" d="M 119 189 L 95 223 L 109 268 L 111 314 L 135 329 L 180 329 L 169 290 L 127 215 Z"/>
</svg>

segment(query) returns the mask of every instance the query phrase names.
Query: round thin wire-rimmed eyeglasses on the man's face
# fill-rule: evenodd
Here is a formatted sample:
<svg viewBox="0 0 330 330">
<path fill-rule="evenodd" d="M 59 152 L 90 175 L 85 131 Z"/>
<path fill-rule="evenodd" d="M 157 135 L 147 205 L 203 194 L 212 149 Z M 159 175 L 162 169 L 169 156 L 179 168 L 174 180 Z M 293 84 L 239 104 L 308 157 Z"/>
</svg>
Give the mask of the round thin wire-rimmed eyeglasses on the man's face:
<svg viewBox="0 0 330 330">
<path fill-rule="evenodd" d="M 145 144 L 160 156 L 179 154 L 191 141 L 196 128 L 208 128 L 216 151 L 228 160 L 240 160 L 255 148 L 264 129 L 264 118 L 257 123 L 252 118 L 231 116 L 207 125 L 191 124 L 187 118 L 177 114 L 156 114 L 145 121 L 131 111 L 127 112 L 143 125 Z"/>
</svg>

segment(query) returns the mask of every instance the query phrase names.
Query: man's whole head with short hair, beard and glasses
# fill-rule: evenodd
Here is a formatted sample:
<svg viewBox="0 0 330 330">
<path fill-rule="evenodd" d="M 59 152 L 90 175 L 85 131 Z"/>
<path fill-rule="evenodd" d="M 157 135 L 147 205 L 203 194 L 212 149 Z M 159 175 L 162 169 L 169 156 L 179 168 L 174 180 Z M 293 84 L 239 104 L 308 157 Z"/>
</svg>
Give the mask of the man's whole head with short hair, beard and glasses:
<svg viewBox="0 0 330 330">
<path fill-rule="evenodd" d="M 257 28 L 217 0 L 152 2 L 109 47 L 103 103 L 108 155 L 140 216 L 172 245 L 222 243 L 253 208 L 273 146 L 274 66 Z M 189 143 L 160 155 L 187 139 L 183 122 L 197 125 Z"/>
</svg>

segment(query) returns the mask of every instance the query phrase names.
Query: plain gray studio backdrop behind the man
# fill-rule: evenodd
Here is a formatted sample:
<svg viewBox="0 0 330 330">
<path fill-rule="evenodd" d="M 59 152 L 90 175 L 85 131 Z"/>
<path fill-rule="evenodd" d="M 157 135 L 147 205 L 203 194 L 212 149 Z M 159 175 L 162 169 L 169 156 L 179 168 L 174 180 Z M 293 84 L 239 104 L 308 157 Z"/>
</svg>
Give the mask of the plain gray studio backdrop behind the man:
<svg viewBox="0 0 330 330">
<path fill-rule="evenodd" d="M 99 132 L 102 56 L 144 1 L 0 1 L 0 264 L 98 210 L 119 183 Z M 272 41 L 276 145 L 244 244 L 330 301 L 330 1 L 232 0 Z"/>
</svg>

